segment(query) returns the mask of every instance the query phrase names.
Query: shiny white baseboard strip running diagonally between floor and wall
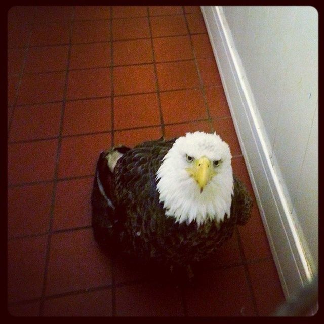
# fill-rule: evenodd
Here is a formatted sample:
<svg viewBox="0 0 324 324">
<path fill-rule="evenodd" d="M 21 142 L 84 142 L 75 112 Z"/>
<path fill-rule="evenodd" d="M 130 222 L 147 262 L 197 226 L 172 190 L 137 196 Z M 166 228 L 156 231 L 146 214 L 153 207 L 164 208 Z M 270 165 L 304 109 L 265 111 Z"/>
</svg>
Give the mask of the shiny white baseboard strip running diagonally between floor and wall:
<svg viewBox="0 0 324 324">
<path fill-rule="evenodd" d="M 285 185 L 271 163 L 267 135 L 221 7 L 201 7 L 256 200 L 286 298 L 312 278 L 288 208 Z M 282 185 L 283 184 L 283 185 Z"/>
</svg>

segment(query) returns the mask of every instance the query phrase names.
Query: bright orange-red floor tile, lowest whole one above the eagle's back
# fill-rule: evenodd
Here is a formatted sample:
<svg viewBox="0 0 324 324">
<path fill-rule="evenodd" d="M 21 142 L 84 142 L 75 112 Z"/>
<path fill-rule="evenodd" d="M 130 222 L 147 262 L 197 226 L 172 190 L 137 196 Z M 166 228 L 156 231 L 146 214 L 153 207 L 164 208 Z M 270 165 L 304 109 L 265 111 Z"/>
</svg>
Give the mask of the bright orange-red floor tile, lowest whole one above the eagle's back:
<svg viewBox="0 0 324 324">
<path fill-rule="evenodd" d="M 114 98 L 116 130 L 160 124 L 156 93 Z"/>
</svg>

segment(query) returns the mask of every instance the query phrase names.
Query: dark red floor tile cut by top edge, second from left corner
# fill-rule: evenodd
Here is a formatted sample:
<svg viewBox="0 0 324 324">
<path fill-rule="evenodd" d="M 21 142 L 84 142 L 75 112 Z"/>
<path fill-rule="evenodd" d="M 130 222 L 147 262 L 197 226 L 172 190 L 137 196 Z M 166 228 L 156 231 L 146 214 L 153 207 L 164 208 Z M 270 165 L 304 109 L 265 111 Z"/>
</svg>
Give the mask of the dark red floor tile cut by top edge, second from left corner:
<svg viewBox="0 0 324 324">
<path fill-rule="evenodd" d="M 72 14 L 72 6 L 38 6 L 33 21 L 35 23 L 70 21 Z"/>
</svg>

